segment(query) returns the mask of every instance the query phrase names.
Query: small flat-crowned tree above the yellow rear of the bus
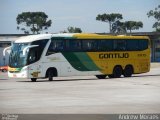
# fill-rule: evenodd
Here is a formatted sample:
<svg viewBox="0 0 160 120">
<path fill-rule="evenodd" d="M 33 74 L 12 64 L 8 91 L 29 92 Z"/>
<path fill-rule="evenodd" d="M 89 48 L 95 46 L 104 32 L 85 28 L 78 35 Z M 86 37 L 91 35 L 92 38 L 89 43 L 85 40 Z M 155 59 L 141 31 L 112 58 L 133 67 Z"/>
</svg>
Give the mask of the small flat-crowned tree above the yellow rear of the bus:
<svg viewBox="0 0 160 120">
<path fill-rule="evenodd" d="M 143 27 L 143 23 L 141 21 L 126 21 L 125 23 L 125 28 L 132 32 L 132 30 L 138 30 L 139 28 Z"/>
</svg>

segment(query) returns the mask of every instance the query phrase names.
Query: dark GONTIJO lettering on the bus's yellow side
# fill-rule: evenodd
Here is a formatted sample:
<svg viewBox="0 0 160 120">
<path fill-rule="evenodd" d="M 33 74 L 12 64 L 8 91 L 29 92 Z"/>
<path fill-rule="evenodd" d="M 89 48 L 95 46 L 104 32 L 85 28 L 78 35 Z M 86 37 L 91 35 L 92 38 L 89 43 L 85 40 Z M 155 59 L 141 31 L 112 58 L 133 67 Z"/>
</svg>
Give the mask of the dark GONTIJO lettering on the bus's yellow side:
<svg viewBox="0 0 160 120">
<path fill-rule="evenodd" d="M 102 53 L 99 54 L 100 59 L 107 59 L 107 58 L 129 58 L 128 53 Z"/>
</svg>

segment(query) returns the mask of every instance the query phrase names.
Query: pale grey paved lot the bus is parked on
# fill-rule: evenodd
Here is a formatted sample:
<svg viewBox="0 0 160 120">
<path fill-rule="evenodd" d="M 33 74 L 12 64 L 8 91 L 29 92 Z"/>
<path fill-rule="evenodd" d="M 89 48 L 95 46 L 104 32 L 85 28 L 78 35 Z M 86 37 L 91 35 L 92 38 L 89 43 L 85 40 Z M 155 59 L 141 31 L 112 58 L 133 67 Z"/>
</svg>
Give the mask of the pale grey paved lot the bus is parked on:
<svg viewBox="0 0 160 120">
<path fill-rule="evenodd" d="M 31 82 L 0 73 L 0 113 L 160 113 L 160 66 L 131 78 L 101 80 L 71 76 Z"/>
</svg>

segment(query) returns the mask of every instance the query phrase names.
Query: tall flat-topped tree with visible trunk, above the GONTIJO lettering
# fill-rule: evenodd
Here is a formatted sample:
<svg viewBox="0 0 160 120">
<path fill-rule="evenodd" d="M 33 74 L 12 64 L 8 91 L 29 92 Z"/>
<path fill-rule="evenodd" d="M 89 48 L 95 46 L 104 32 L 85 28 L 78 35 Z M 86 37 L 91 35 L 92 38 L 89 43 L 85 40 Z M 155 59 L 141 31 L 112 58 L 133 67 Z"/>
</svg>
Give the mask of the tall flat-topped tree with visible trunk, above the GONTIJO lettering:
<svg viewBox="0 0 160 120">
<path fill-rule="evenodd" d="M 123 19 L 122 14 L 119 13 L 111 13 L 111 14 L 98 14 L 96 20 L 109 23 L 110 33 L 112 32 L 112 24 L 116 21 Z"/>
</svg>

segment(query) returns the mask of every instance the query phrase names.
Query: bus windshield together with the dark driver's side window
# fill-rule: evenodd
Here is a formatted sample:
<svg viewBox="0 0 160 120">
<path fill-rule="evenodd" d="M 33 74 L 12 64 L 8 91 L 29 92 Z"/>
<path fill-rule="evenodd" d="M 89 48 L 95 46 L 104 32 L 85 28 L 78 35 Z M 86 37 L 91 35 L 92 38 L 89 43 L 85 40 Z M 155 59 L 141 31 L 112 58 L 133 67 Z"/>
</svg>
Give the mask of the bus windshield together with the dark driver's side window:
<svg viewBox="0 0 160 120">
<path fill-rule="evenodd" d="M 13 43 L 9 57 L 9 67 L 21 68 L 37 62 L 48 42 L 48 39 L 37 40 L 31 43 Z M 26 49 L 28 47 L 28 49 Z M 25 54 L 23 54 L 24 50 Z"/>
</svg>

